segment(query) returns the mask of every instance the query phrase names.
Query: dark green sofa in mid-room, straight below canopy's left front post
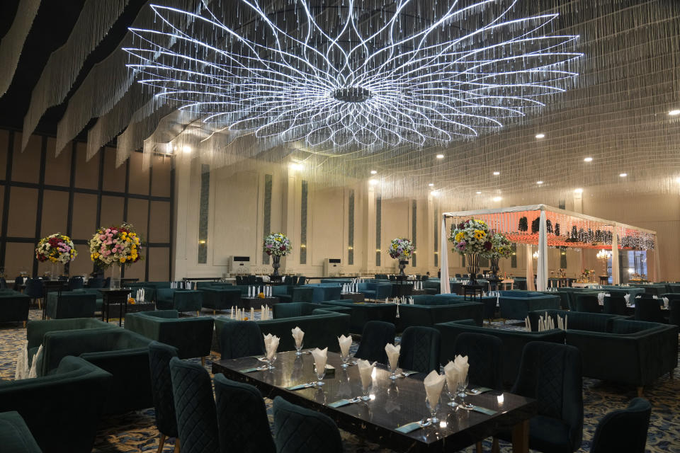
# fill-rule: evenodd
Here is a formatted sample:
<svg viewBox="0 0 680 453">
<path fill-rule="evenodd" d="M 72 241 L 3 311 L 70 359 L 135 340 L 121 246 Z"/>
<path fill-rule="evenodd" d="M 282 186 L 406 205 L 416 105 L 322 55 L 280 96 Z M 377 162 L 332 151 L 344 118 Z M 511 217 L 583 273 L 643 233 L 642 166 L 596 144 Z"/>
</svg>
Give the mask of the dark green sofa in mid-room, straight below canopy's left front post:
<svg viewBox="0 0 680 453">
<path fill-rule="evenodd" d="M 438 323 L 473 319 L 482 325 L 484 305 L 480 302 L 459 302 L 448 305 L 408 305 L 399 304 L 397 332 L 410 326 L 434 327 Z"/>
</svg>

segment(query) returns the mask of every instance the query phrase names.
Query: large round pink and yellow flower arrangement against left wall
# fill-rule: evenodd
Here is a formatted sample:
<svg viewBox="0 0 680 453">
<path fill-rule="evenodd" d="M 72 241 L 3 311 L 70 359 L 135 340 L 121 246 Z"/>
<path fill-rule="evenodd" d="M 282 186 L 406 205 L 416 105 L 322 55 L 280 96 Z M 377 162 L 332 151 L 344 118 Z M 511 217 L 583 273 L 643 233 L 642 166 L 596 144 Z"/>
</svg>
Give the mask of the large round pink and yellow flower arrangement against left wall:
<svg viewBox="0 0 680 453">
<path fill-rule="evenodd" d="M 130 265 L 142 256 L 142 239 L 135 233 L 135 227 L 127 222 L 120 226 L 103 226 L 90 239 L 90 258 L 99 268 L 113 264 Z"/>
</svg>

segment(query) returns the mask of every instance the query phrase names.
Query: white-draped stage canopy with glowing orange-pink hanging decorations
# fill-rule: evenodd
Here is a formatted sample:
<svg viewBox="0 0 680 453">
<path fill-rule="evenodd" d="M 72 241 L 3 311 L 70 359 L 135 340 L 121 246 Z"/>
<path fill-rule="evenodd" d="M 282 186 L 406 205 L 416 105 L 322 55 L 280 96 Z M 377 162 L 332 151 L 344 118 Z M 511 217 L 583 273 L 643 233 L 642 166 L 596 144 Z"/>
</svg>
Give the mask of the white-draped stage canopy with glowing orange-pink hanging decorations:
<svg viewBox="0 0 680 453">
<path fill-rule="evenodd" d="M 656 231 L 600 219 L 548 205 L 504 207 L 492 210 L 444 212 L 441 221 L 441 292 L 450 292 L 448 282 L 448 231 L 450 226 L 474 217 L 514 243 L 538 246 L 536 287 L 548 287 L 548 246 L 601 248 L 606 250 L 654 250 Z M 449 221 L 447 226 L 446 222 Z M 531 249 L 527 248 L 527 282 L 533 287 Z M 618 253 L 612 253 L 613 283 L 618 283 Z"/>
</svg>

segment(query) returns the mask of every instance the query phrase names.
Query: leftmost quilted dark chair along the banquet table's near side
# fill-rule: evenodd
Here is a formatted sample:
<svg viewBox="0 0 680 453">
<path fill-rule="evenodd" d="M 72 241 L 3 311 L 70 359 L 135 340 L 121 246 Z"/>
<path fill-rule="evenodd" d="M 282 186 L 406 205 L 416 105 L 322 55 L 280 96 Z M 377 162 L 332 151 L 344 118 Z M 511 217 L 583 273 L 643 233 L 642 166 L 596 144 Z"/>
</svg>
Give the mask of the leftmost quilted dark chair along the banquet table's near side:
<svg viewBox="0 0 680 453">
<path fill-rule="evenodd" d="M 149 343 L 151 391 L 156 412 L 156 426 L 167 437 L 178 437 L 175 400 L 172 396 L 170 360 L 177 357 L 177 348 L 165 343 Z"/>
</svg>

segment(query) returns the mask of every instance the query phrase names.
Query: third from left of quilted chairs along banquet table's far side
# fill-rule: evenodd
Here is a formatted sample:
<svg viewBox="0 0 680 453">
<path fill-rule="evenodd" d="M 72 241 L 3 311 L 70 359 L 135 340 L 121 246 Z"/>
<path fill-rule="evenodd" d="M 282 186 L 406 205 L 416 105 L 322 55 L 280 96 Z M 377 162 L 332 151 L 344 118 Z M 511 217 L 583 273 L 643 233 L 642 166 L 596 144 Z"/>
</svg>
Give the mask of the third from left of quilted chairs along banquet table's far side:
<svg viewBox="0 0 680 453">
<path fill-rule="evenodd" d="M 402 333 L 399 367 L 429 373 L 439 369 L 441 335 L 431 327 L 411 326 Z"/>
</svg>

